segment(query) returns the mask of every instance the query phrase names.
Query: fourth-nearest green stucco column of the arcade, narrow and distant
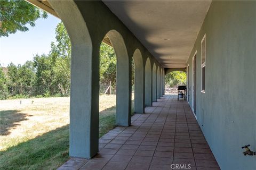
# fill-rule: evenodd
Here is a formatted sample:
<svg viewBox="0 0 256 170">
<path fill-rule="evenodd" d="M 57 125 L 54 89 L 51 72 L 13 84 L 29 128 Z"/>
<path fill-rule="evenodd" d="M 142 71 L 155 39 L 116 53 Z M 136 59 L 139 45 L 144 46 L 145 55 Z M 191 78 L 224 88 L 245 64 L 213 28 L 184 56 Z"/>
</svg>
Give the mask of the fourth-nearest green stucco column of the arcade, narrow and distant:
<svg viewBox="0 0 256 170">
<path fill-rule="evenodd" d="M 152 106 L 152 95 L 153 95 L 153 85 L 152 85 L 152 69 L 150 58 L 147 58 L 145 65 L 145 105 Z"/>
</svg>

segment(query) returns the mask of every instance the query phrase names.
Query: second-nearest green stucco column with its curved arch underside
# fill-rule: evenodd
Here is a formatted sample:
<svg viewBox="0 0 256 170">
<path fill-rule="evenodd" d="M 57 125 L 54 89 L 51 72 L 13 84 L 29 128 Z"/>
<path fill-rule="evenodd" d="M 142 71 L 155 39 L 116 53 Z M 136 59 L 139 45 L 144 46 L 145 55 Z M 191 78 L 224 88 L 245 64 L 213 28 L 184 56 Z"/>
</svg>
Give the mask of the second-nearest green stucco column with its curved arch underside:
<svg viewBox="0 0 256 170">
<path fill-rule="evenodd" d="M 131 124 L 131 60 L 122 35 L 110 30 L 109 38 L 116 54 L 116 125 Z"/>
</svg>

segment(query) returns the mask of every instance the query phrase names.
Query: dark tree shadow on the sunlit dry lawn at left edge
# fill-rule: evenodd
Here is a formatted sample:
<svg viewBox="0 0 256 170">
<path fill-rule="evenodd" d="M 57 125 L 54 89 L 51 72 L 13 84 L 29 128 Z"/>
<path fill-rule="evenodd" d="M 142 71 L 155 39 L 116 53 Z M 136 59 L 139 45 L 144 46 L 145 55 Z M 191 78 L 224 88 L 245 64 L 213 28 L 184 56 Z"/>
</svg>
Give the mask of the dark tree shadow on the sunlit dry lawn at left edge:
<svg viewBox="0 0 256 170">
<path fill-rule="evenodd" d="M 26 121 L 32 115 L 21 113 L 18 110 L 0 111 L 1 135 L 10 134 L 10 130 L 19 126 L 19 122 Z"/>
</svg>

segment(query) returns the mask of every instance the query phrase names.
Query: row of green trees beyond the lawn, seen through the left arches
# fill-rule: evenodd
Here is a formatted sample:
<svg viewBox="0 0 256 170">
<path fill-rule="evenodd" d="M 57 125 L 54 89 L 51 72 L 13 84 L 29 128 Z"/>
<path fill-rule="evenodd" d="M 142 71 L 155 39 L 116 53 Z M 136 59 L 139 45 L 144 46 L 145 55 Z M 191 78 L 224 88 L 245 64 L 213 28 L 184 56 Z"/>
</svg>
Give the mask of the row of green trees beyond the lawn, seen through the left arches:
<svg viewBox="0 0 256 170">
<path fill-rule="evenodd" d="M 57 43 L 51 43 L 49 54 L 36 54 L 33 61 L 23 65 L 8 65 L 7 78 L 1 76 L 1 99 L 18 97 L 68 96 L 70 94 L 71 42 L 60 22 L 55 29 Z M 113 47 L 100 46 L 100 83 L 116 87 L 116 55 Z M 134 62 L 132 61 L 132 84 Z M 5 85 L 4 85 L 5 84 Z M 5 91 L 5 92 L 4 92 Z M 9 94 L 9 95 L 7 95 Z"/>
</svg>

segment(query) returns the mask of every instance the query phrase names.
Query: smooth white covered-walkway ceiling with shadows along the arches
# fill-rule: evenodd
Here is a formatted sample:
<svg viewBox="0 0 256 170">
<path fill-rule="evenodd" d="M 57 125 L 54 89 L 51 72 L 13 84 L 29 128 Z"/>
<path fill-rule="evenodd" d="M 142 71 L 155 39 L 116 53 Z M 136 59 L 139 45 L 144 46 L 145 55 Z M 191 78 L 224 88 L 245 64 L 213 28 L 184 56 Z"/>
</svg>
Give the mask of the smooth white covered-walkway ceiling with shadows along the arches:
<svg viewBox="0 0 256 170">
<path fill-rule="evenodd" d="M 164 67 L 186 67 L 211 1 L 103 1 Z"/>
</svg>

